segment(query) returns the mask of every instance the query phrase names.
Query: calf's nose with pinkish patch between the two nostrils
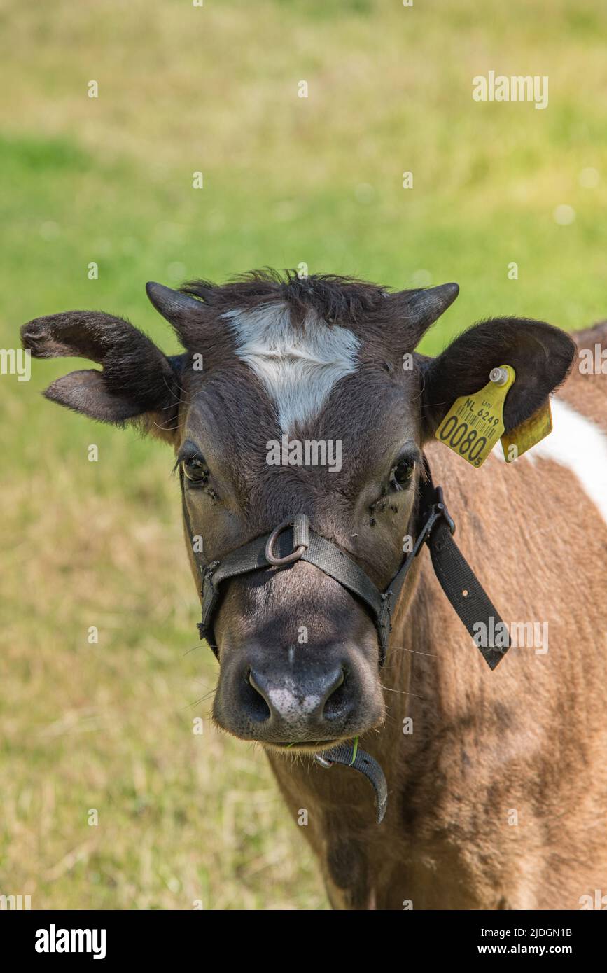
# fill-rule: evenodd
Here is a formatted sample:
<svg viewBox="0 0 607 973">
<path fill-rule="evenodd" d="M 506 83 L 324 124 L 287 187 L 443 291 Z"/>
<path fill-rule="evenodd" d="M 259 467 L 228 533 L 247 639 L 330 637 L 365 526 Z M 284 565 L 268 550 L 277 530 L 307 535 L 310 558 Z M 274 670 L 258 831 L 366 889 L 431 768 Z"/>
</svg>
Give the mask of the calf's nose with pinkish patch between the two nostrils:
<svg viewBox="0 0 607 973">
<path fill-rule="evenodd" d="M 342 666 L 319 673 L 300 684 L 291 681 L 277 683 L 265 673 L 251 668 L 248 683 L 257 694 L 257 699 L 251 700 L 252 710 L 260 722 L 270 721 L 285 729 L 304 725 L 320 727 L 335 713 L 338 702 L 336 694 L 344 681 Z"/>
</svg>

